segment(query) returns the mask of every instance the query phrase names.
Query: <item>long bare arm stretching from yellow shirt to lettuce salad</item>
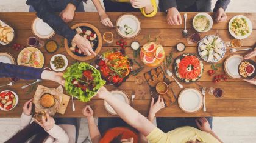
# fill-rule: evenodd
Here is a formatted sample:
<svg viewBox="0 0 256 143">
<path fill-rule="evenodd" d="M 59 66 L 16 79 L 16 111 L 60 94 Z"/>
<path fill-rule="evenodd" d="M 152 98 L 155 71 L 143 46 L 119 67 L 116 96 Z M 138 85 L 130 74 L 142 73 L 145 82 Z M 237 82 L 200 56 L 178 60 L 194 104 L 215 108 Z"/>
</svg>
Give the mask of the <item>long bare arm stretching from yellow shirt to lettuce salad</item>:
<svg viewBox="0 0 256 143">
<path fill-rule="evenodd" d="M 143 115 L 138 113 L 135 109 L 130 107 L 128 104 L 123 104 L 117 98 L 113 97 L 105 87 L 101 87 L 96 95 L 99 98 L 104 99 L 111 107 L 116 111 L 116 113 L 133 128 L 136 128 L 144 136 L 148 136 L 155 127 L 152 122 L 150 122 Z"/>
</svg>

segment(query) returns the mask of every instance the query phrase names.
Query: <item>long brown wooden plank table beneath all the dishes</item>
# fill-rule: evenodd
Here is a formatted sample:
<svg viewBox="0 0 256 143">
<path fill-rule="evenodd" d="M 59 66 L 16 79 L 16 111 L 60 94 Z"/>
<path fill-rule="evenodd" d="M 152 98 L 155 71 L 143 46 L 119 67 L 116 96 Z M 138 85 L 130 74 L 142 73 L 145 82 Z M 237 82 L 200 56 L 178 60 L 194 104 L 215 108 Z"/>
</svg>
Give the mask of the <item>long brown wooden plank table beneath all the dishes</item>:
<svg viewBox="0 0 256 143">
<path fill-rule="evenodd" d="M 110 19 L 112 19 L 113 24 L 115 24 L 116 19 L 119 15 L 122 13 L 108 13 L 110 16 Z M 143 45 L 146 43 L 146 40 L 143 39 L 144 36 L 151 35 L 151 38 L 154 39 L 156 36 L 160 36 L 157 42 L 162 44 L 165 47 L 165 52 L 173 52 L 174 58 L 181 55 L 182 53 L 193 53 L 195 55 L 197 54 L 197 45 L 188 45 L 186 42 L 186 39 L 182 37 L 182 28 L 184 27 L 183 23 L 182 25 L 177 26 L 169 26 L 166 22 L 166 15 L 165 13 L 157 13 L 154 18 L 144 18 L 141 13 L 133 13 L 138 16 L 138 18 L 141 20 L 142 29 L 140 32 L 140 35 L 138 35 L 136 38 L 133 39 L 127 39 L 127 44 L 130 45 L 132 41 L 140 41 L 140 44 Z M 213 16 L 213 13 L 209 13 Z M 183 15 L 183 14 L 182 14 Z M 196 32 L 193 29 L 192 26 L 192 20 L 193 17 L 196 15 L 196 13 L 188 13 L 188 21 L 187 21 L 187 28 L 189 33 Z M 254 25 L 254 30 L 252 32 L 252 35 L 249 36 L 249 38 L 246 38 L 243 40 L 243 47 L 242 48 L 251 48 L 256 39 L 256 13 L 227 13 L 227 21 L 219 22 L 218 24 L 213 24 L 212 30 L 206 33 L 201 33 L 202 36 L 205 35 L 218 35 L 220 36 L 225 42 L 230 41 L 233 39 L 233 37 L 230 35 L 229 31 L 227 30 L 228 22 L 230 18 L 232 18 L 235 15 L 245 15 L 249 19 L 251 19 L 252 24 Z M 0 13 L 0 19 L 2 21 L 8 22 L 8 24 L 12 25 L 12 27 L 15 29 L 16 32 L 16 39 L 15 42 L 19 44 L 26 45 L 26 39 L 29 36 L 33 36 L 31 31 L 31 24 L 33 19 L 35 18 L 35 13 Z M 110 31 L 114 34 L 115 41 L 112 44 L 107 44 L 106 42 L 103 42 L 101 53 L 112 49 L 114 47 L 119 48 L 116 46 L 116 41 L 120 39 L 121 37 L 116 33 L 115 28 L 108 28 L 104 27 L 99 22 L 99 16 L 98 13 L 76 13 L 76 16 L 74 17 L 73 22 L 69 23 L 69 26 L 80 23 L 80 22 L 88 22 L 90 24 L 95 25 L 97 28 L 99 28 L 99 31 L 103 35 L 104 32 Z M 59 42 L 62 39 L 61 36 L 55 35 L 52 39 L 55 39 L 57 42 Z M 184 52 L 177 52 L 174 48 L 178 42 L 183 42 L 187 45 L 187 48 Z M 44 48 L 40 49 L 44 54 L 44 67 L 50 67 L 49 60 L 51 57 L 56 53 L 62 53 L 67 56 L 69 65 L 73 64 L 76 61 L 75 59 L 71 58 L 71 56 L 66 53 L 66 50 L 64 47 L 59 48 L 57 52 L 54 54 L 49 54 L 44 50 Z M 12 48 L 0 48 L 0 51 L 9 52 L 12 53 L 12 55 L 17 58 L 18 53 Z M 101 54 L 100 53 L 100 54 Z M 127 55 L 129 55 L 130 58 L 132 58 L 132 50 L 130 47 L 127 47 L 126 49 Z M 247 52 L 237 52 L 241 55 L 246 55 Z M 218 64 L 223 64 L 224 60 L 227 58 L 227 56 L 230 56 L 231 53 L 227 52 L 225 57 L 218 62 Z M 140 59 L 137 59 L 141 64 L 142 62 Z M 254 58 L 255 60 L 255 58 Z M 88 63 L 94 61 L 86 61 Z M 210 70 L 211 64 L 208 64 L 207 62 L 204 62 L 204 74 L 202 75 L 201 79 L 195 83 L 191 84 L 184 84 L 184 87 L 194 87 L 197 89 L 200 89 L 201 87 L 220 87 L 225 91 L 225 96 L 222 99 L 215 98 L 211 95 L 206 95 L 206 107 L 207 112 L 204 113 L 204 111 L 199 111 L 196 114 L 187 114 L 184 113 L 182 110 L 180 110 L 179 105 L 177 102 L 171 107 L 166 107 L 163 110 L 159 111 L 157 113 L 157 116 L 256 116 L 256 88 L 254 85 L 251 85 L 247 82 L 244 82 L 240 79 L 228 79 L 228 81 L 224 82 L 221 81 L 218 84 L 213 84 L 212 79 L 213 77 L 208 76 L 207 71 Z M 171 65 L 172 67 L 172 65 Z M 133 67 L 135 69 L 136 66 Z M 139 73 L 138 76 L 143 76 L 143 73 L 146 71 L 151 70 L 151 67 L 145 67 L 144 70 Z M 172 69 L 171 69 L 172 70 Z M 223 68 L 219 68 L 217 71 L 217 74 L 224 73 Z M 127 82 L 124 82 L 119 89 L 124 90 L 128 93 L 130 99 L 131 99 L 131 92 L 132 90 L 135 90 L 137 88 L 143 89 L 146 94 L 135 96 L 135 102 L 134 102 L 134 108 L 138 110 L 143 115 L 148 114 L 149 105 L 151 102 L 151 95 L 149 93 L 149 87 L 146 81 L 142 85 L 134 84 L 134 76 L 130 76 L 127 79 Z M 171 81 L 173 81 L 170 78 Z M 20 101 L 18 105 L 11 111 L 0 111 L 0 117 L 20 117 L 22 107 L 24 102 L 26 102 L 28 99 L 32 98 L 34 96 L 35 90 L 27 93 L 27 90 L 29 88 L 26 88 L 25 90 L 21 90 L 22 85 L 26 85 L 29 82 L 32 81 L 24 81 L 20 80 L 18 81 L 13 87 L 5 87 L 1 88 L 0 90 L 13 90 L 16 93 L 18 93 L 18 96 L 20 98 Z M 0 84 L 8 84 L 7 78 L 1 78 Z M 46 87 L 54 88 L 57 87 L 58 84 L 51 81 L 43 81 L 40 83 L 40 85 L 44 85 Z M 106 85 L 105 87 L 108 88 L 108 90 L 113 90 L 115 87 L 112 85 Z M 174 92 L 176 95 L 179 95 L 180 89 L 178 85 L 174 82 Z M 76 111 L 71 110 L 71 102 L 68 104 L 68 108 L 66 110 L 65 115 L 57 114 L 56 116 L 65 116 L 65 117 L 79 117 L 82 116 L 81 110 L 85 105 L 91 105 L 91 107 L 94 110 L 95 116 L 105 117 L 105 116 L 113 116 L 110 115 L 104 108 L 104 101 L 102 99 L 93 98 L 90 102 L 83 103 L 80 101 L 75 100 L 76 105 Z"/>
</svg>

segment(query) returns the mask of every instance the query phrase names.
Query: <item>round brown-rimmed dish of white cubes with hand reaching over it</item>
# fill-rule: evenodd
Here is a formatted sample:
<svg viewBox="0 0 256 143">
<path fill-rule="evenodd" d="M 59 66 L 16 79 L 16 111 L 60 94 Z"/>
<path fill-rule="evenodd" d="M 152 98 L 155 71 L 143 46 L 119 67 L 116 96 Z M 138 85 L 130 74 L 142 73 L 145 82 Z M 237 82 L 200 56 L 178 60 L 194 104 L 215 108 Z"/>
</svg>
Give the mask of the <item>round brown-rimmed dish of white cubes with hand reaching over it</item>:
<svg viewBox="0 0 256 143">
<path fill-rule="evenodd" d="M 94 27 L 94 25 L 91 25 L 91 24 L 81 23 L 81 24 L 73 25 L 71 29 L 73 29 L 74 32 L 76 32 L 78 35 L 88 39 L 88 41 L 91 44 L 91 47 L 93 48 L 93 51 L 96 54 L 99 53 L 102 46 L 102 37 L 98 28 Z M 65 44 L 66 51 L 74 59 L 77 59 L 79 61 L 86 61 L 94 58 L 93 55 L 86 56 L 85 53 L 82 52 L 74 42 L 71 42 L 65 39 L 64 44 Z"/>
</svg>

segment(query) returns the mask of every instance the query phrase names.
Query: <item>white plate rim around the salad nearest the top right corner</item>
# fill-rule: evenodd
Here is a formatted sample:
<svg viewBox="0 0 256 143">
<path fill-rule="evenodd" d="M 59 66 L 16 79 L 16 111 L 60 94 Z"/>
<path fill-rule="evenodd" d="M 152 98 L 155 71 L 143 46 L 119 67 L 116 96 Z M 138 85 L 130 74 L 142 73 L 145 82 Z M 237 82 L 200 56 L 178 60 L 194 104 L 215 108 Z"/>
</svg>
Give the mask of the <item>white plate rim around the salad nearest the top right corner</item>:
<svg viewBox="0 0 256 143">
<path fill-rule="evenodd" d="M 246 19 L 246 21 L 247 21 L 247 24 L 248 24 L 248 27 L 249 27 L 249 33 L 247 33 L 246 35 L 244 35 L 244 36 L 237 36 L 237 35 L 235 35 L 235 33 L 233 33 L 231 30 L 230 30 L 230 24 L 232 23 L 232 21 L 233 21 L 233 19 L 235 19 L 235 18 L 244 18 L 244 19 Z M 230 21 L 229 21 L 229 33 L 230 33 L 230 35 L 232 35 L 234 38 L 236 38 L 236 39 L 244 39 L 244 38 L 247 38 L 247 37 L 249 37 L 250 35 L 251 35 L 251 33 L 252 33 L 252 22 L 250 21 L 250 19 L 249 18 L 247 18 L 246 16 L 243 16 L 243 15 L 236 15 L 236 16 L 233 16 L 233 18 L 231 18 L 230 19 Z"/>
</svg>

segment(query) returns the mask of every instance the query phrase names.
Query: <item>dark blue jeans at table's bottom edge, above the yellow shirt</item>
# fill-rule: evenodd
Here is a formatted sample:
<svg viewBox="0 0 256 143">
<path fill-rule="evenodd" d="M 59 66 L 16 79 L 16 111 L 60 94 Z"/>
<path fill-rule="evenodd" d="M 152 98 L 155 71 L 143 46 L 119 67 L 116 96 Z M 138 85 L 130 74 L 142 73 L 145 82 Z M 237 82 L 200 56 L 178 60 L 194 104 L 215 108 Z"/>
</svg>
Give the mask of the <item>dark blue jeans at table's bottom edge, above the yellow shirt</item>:
<svg viewBox="0 0 256 143">
<path fill-rule="evenodd" d="M 191 126 L 199 129 L 195 120 L 196 117 L 157 117 L 157 127 L 165 133 L 183 126 Z M 207 120 L 212 128 L 213 118 L 207 117 Z"/>
</svg>

